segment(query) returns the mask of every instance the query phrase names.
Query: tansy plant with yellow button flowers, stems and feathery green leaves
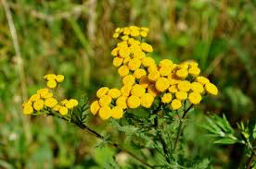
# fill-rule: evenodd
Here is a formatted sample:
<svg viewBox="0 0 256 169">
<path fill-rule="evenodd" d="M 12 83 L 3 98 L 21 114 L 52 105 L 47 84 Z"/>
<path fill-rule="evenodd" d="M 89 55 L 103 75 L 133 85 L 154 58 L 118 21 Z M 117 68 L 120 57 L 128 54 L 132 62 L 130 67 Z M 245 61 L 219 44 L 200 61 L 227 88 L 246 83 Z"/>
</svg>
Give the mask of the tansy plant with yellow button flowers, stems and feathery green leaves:
<svg viewBox="0 0 256 169">
<path fill-rule="evenodd" d="M 113 34 L 113 38 L 120 41 L 111 52 L 113 66 L 122 79 L 120 89 L 100 88 L 96 91 L 96 101 L 90 105 L 84 100 L 79 104 L 74 99 L 59 101 L 57 88 L 64 76 L 48 74 L 46 88 L 23 104 L 23 113 L 54 115 L 67 120 L 102 139 L 102 145 L 129 154 L 135 160 L 130 163 L 133 168 L 208 168 L 208 159 L 191 163 L 191 159 L 186 158 L 182 151 L 185 143 L 180 136 L 187 113 L 205 96 L 216 96 L 218 89 L 200 75 L 198 63 L 193 60 L 177 64 L 163 59 L 156 63 L 150 56 L 153 47 L 144 40 L 147 34 L 147 28 L 135 26 L 118 28 Z M 88 127 L 86 119 L 90 113 L 102 120 L 109 119 L 107 123 L 124 133 L 126 141 L 118 143 L 112 135 L 104 136 Z M 206 128 L 222 137 L 217 143 L 239 142 L 225 118 L 208 118 L 208 121 L 211 124 Z M 215 124 L 213 128 L 212 124 Z M 221 133 L 222 129 L 227 134 Z M 246 141 L 240 142 L 245 144 Z M 180 151 L 176 151 L 177 148 Z"/>
</svg>

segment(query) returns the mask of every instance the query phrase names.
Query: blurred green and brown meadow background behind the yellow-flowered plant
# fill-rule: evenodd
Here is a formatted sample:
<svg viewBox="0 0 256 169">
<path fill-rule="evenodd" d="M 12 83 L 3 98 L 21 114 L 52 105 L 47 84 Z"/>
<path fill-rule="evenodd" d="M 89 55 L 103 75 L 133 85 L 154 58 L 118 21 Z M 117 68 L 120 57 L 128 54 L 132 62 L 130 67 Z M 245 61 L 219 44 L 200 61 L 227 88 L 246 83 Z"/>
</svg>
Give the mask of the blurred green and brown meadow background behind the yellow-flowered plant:
<svg viewBox="0 0 256 169">
<path fill-rule="evenodd" d="M 225 114 L 235 128 L 238 121 L 255 122 L 256 1 L 0 2 L 0 168 L 103 168 L 115 158 L 125 162 L 127 155 L 95 149 L 98 140 L 71 124 L 22 115 L 21 103 L 44 88 L 47 73 L 65 75 L 59 94 L 68 98 L 87 95 L 92 101 L 99 87 L 120 87 L 111 65 L 112 33 L 130 25 L 149 28 L 147 42 L 157 61 L 194 59 L 219 88 L 219 97 L 206 98 L 190 115 L 187 157 L 208 159 L 214 168 L 237 168 L 246 159 L 243 147 L 215 145 L 198 125 L 210 112 Z M 112 132 L 96 118 L 90 125 Z"/>
</svg>

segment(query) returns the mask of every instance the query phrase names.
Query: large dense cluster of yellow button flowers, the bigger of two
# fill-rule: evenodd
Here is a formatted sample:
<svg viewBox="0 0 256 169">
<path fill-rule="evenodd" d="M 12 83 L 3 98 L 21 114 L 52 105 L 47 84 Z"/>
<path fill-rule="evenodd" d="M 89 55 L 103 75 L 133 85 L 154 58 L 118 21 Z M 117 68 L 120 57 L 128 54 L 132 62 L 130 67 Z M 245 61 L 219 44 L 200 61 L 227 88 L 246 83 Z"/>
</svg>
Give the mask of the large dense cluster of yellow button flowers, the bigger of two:
<svg viewBox="0 0 256 169">
<path fill-rule="evenodd" d="M 122 78 L 122 88 L 100 88 L 96 92 L 98 100 L 91 104 L 91 112 L 102 119 L 121 118 L 125 109 L 139 106 L 150 108 L 157 97 L 163 105 L 178 110 L 186 100 L 200 103 L 202 95 L 217 95 L 218 89 L 208 78 L 199 76 L 200 69 L 195 61 L 179 65 L 169 59 L 159 64 L 148 56 L 153 48 L 139 39 L 147 37 L 147 28 L 135 26 L 118 28 L 113 35 L 120 38 L 112 50 L 113 66 L 118 67 Z"/>
</svg>

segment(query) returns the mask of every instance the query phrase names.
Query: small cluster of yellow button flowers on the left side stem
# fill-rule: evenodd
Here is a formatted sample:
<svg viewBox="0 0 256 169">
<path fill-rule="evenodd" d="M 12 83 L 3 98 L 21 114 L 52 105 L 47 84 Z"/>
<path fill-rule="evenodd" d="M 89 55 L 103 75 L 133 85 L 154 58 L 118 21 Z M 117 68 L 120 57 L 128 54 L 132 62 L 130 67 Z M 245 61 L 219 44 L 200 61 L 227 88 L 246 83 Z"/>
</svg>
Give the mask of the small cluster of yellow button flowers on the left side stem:
<svg viewBox="0 0 256 169">
<path fill-rule="evenodd" d="M 78 105 L 78 101 L 65 99 L 58 102 L 54 91 L 51 91 L 57 87 L 58 83 L 64 80 L 64 76 L 48 74 L 44 78 L 47 80 L 47 88 L 36 91 L 27 102 L 23 103 L 23 114 L 32 115 L 36 112 L 53 110 L 60 115 L 67 115 L 69 110 Z"/>
</svg>

